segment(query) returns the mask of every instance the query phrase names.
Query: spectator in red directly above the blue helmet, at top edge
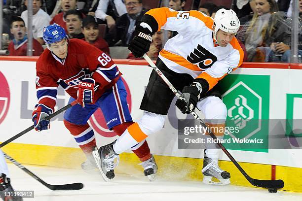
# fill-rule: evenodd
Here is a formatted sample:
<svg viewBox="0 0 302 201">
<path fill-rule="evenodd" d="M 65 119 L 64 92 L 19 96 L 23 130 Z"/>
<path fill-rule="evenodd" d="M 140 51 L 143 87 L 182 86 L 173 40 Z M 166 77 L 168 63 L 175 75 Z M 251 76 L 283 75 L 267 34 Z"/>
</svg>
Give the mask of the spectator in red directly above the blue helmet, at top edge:
<svg viewBox="0 0 302 201">
<path fill-rule="evenodd" d="M 61 0 L 61 8 L 63 12 L 55 15 L 53 19 L 50 21 L 50 24 L 56 23 L 67 31 L 66 20 L 64 15 L 66 14 L 67 11 L 76 9 L 76 2 L 77 0 Z"/>
</svg>

